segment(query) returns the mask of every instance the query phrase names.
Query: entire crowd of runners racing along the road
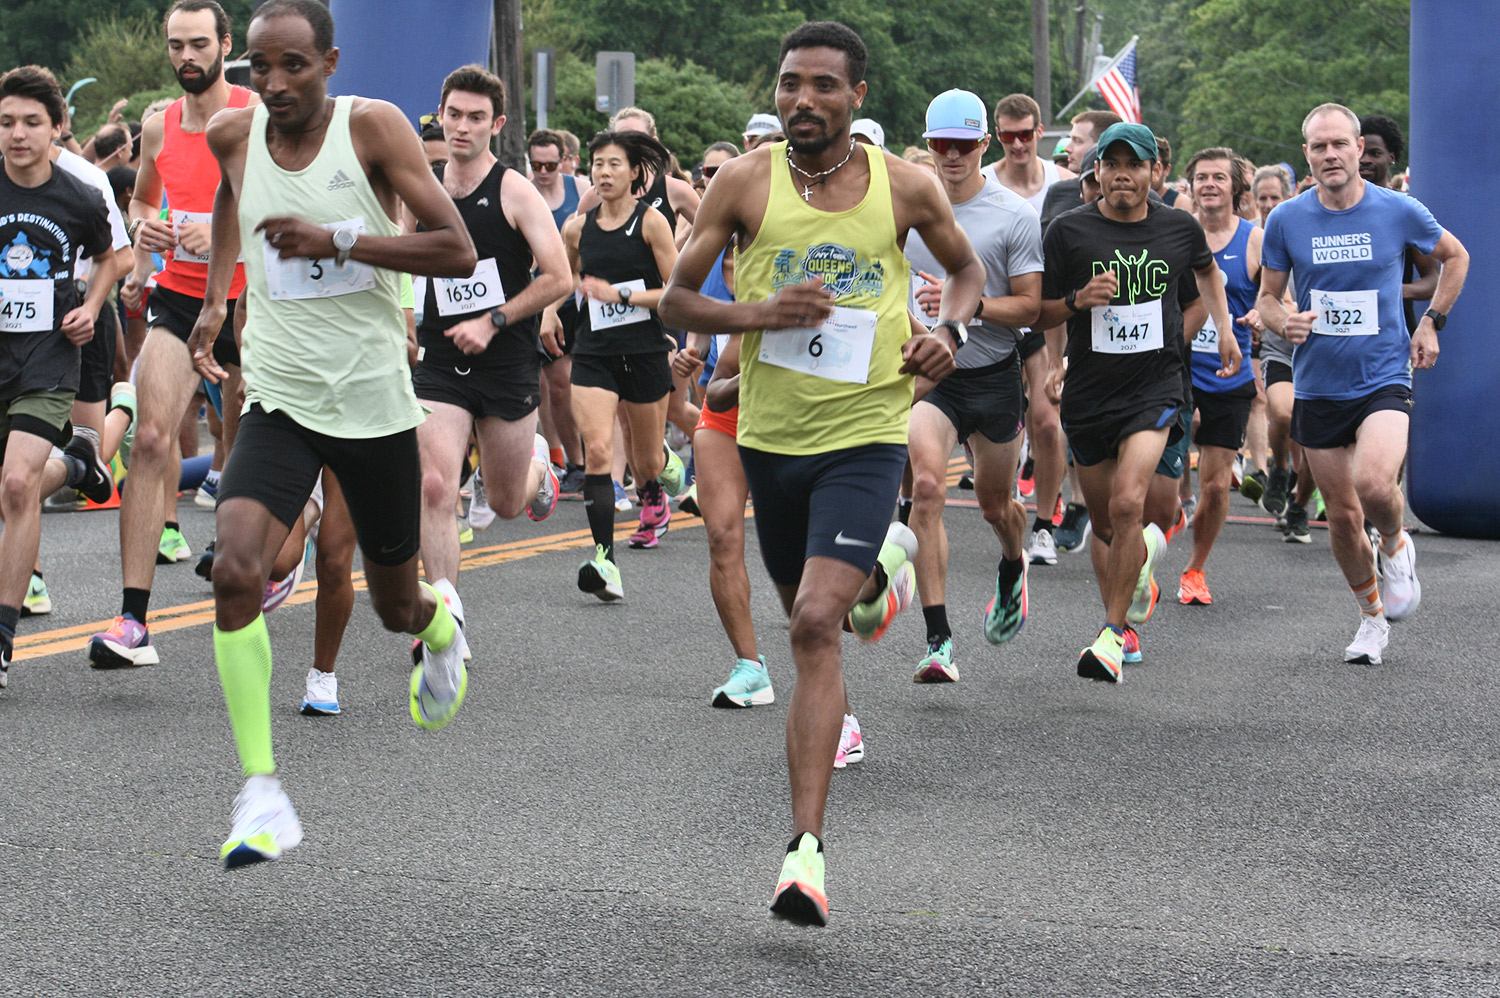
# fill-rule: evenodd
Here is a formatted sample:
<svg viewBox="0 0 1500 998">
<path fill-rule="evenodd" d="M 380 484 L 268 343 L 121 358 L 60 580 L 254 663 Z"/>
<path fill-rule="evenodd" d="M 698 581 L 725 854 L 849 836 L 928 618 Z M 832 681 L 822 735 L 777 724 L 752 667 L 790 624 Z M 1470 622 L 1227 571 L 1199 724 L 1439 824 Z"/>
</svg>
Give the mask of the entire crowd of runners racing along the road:
<svg viewBox="0 0 1500 998">
<path fill-rule="evenodd" d="M 1144 125 L 1086 111 L 1054 158 L 1032 98 L 954 89 L 927 107 L 926 149 L 896 156 L 858 117 L 860 36 L 820 21 L 783 39 L 776 113 L 738 141 L 680 161 L 626 108 L 586 143 L 532 132 L 514 170 L 490 152 L 504 84 L 477 66 L 447 77 L 420 134 L 390 104 L 330 98 L 316 0 L 258 9 L 254 90 L 224 77 L 213 0 L 177 0 L 164 27 L 183 95 L 138 131 L 111 122 L 80 146 L 48 71 L 0 77 L 0 686 L 21 617 L 51 611 L 44 501 L 118 489 L 120 612 L 88 641 L 96 668 L 160 660 L 153 573 L 194 554 L 180 494 L 216 507 L 198 570 L 246 777 L 230 867 L 302 840 L 272 752 L 266 614 L 304 564 L 303 713 L 340 710 L 358 548 L 375 614 L 412 638 L 411 719 L 442 728 L 483 654 L 460 545 L 560 498 L 582 504 L 578 588 L 602 600 L 626 599 L 616 513 L 639 507 L 632 549 L 657 548 L 675 510 L 702 518 L 734 653 L 705 699 L 726 708 L 774 702 L 753 504 L 796 680 L 771 909 L 813 924 L 832 770 L 864 758 L 843 633 L 878 641 L 920 600 L 918 683 L 957 681 L 976 644 L 945 602 L 958 444 L 996 537 L 987 644 L 1022 632 L 1032 572 L 1086 548 L 1102 624 L 1076 656 L 1030 654 L 1122 681 L 1174 539 L 1191 545 L 1178 600 L 1212 602 L 1236 488 L 1288 542 L 1326 519 L 1356 609 L 1342 660 L 1378 665 L 1389 621 L 1418 611 L 1412 371 L 1437 362 L 1468 258 L 1396 189 L 1389 119 L 1324 104 L 1300 125 L 1300 183 L 1215 147 L 1179 188 Z M 200 407 L 214 456 L 184 461 Z"/>
</svg>

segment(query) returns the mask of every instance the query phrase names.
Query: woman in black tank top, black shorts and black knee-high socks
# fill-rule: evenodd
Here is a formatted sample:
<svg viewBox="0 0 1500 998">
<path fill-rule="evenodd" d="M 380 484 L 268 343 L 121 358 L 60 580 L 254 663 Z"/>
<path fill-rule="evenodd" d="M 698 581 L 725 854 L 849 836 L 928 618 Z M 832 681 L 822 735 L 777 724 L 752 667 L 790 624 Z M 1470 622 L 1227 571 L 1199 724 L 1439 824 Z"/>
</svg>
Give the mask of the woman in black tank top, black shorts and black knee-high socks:
<svg viewBox="0 0 1500 998">
<path fill-rule="evenodd" d="M 676 246 L 662 212 L 636 200 L 644 173 L 666 168 L 660 143 L 642 132 L 600 132 L 588 149 L 600 206 L 562 227 L 584 296 L 573 347 L 573 417 L 584 437 L 584 501 L 597 546 L 596 557 L 579 567 L 578 585 L 612 600 L 624 594 L 614 557 L 610 477 L 621 408 L 640 495 L 640 530 L 632 546 L 656 546 L 672 516 L 663 485 L 674 495 L 682 488 L 682 462 L 662 443 L 672 390 L 668 354 L 675 344 L 654 311 Z"/>
</svg>

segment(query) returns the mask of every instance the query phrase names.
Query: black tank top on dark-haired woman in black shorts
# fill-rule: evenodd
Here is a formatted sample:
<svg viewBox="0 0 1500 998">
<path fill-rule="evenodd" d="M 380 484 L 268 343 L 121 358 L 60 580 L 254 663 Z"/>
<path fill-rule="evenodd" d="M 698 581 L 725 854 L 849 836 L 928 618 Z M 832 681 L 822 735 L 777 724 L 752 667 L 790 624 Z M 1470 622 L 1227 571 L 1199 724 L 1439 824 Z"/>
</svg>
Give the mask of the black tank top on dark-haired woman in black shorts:
<svg viewBox="0 0 1500 998">
<path fill-rule="evenodd" d="M 651 207 L 646 198 L 636 201 L 630 219 L 615 230 L 598 227 L 598 209 L 584 216 L 584 231 L 578 237 L 579 273 L 600 278 L 609 284 L 642 281 L 646 290 L 662 287 L 662 272 L 657 270 L 656 254 L 646 246 L 645 215 Z M 636 285 L 638 288 L 640 285 Z M 618 312 L 620 306 L 600 306 L 604 312 Z M 639 306 L 638 306 L 639 308 Z M 639 309 L 632 318 L 644 318 L 621 326 L 594 329 L 596 308 L 585 299 L 578 309 L 576 354 L 614 356 L 658 353 L 672 348 L 662 332 L 662 320 L 650 309 Z M 609 318 L 609 315 L 606 315 Z"/>
</svg>

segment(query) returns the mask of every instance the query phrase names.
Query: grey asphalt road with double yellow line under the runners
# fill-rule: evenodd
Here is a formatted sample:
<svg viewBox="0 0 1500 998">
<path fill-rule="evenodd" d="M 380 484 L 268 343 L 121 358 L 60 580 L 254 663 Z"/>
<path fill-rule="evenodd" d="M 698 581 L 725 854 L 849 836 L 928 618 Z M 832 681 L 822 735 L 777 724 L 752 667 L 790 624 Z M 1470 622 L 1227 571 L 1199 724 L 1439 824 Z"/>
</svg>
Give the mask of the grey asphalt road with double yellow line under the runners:
<svg viewBox="0 0 1500 998">
<path fill-rule="evenodd" d="M 212 515 L 182 516 L 201 548 Z M 992 648 L 998 543 L 972 507 L 948 524 L 963 681 L 910 681 L 918 612 L 848 639 L 868 756 L 834 777 L 818 930 L 766 914 L 794 672 L 753 531 L 778 699 L 747 711 L 708 705 L 732 653 L 696 519 L 622 552 L 618 605 L 574 587 L 580 504 L 480 534 L 468 701 L 438 734 L 363 594 L 345 711 L 302 717 L 298 594 L 270 617 L 273 728 L 306 840 L 228 873 L 206 584 L 159 569 L 162 665 L 94 672 L 116 513 L 46 516 L 57 609 L 22 621 L 36 657 L 0 693 L 0 993 L 1500 993 L 1500 548 L 1420 534 L 1419 614 L 1383 666 L 1350 666 L 1326 533 L 1230 524 L 1215 605 L 1167 600 L 1107 686 L 1074 675 L 1101 618 L 1086 558 L 1035 569 L 1030 620 Z M 1168 596 L 1186 557 L 1158 570 Z"/>
</svg>

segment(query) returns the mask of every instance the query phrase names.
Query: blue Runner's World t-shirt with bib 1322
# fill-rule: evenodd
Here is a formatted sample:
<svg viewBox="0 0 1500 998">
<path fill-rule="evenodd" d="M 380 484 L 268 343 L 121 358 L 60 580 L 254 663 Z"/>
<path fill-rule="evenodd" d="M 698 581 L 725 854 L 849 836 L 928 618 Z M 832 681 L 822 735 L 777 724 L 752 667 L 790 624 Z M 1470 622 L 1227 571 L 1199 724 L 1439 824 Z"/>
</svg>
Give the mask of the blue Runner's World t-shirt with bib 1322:
<svg viewBox="0 0 1500 998">
<path fill-rule="evenodd" d="M 1346 212 L 1323 207 L 1317 189 L 1276 206 L 1260 263 L 1293 272 L 1298 309 L 1318 314 L 1312 335 L 1292 353 L 1299 399 L 1354 399 L 1412 384 L 1412 335 L 1401 311 L 1406 251 L 1430 254 L 1442 236 L 1426 206 L 1372 183 Z"/>
</svg>

